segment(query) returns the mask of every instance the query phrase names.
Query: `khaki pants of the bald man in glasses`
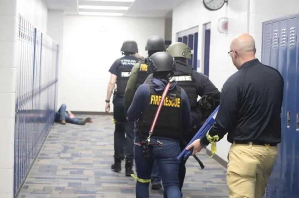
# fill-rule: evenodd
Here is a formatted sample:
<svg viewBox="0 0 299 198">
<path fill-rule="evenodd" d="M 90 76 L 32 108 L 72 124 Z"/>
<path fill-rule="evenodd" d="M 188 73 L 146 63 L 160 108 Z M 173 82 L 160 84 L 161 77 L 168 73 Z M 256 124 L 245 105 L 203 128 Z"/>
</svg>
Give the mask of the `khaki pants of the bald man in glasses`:
<svg viewBox="0 0 299 198">
<path fill-rule="evenodd" d="M 230 198 L 261 198 L 277 154 L 276 146 L 232 144 L 226 174 Z"/>
</svg>

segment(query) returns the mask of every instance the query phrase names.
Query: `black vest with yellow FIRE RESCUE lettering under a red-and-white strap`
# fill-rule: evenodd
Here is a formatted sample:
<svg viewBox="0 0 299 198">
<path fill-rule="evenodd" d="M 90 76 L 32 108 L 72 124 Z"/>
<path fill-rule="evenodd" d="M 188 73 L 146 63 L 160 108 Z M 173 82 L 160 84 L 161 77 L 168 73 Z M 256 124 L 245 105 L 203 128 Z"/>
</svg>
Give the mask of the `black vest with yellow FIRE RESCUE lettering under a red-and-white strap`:
<svg viewBox="0 0 299 198">
<path fill-rule="evenodd" d="M 142 113 L 138 122 L 138 134 L 147 138 L 149 136 L 150 126 L 154 119 L 156 110 L 160 104 L 162 93 L 155 92 L 153 84 L 148 83 L 150 87 L 150 98 L 147 102 L 147 108 Z M 178 139 L 182 133 L 182 106 L 181 106 L 181 87 L 176 86 L 169 90 L 167 97 L 161 108 L 161 112 L 153 132 L 153 136 L 169 137 Z"/>
</svg>

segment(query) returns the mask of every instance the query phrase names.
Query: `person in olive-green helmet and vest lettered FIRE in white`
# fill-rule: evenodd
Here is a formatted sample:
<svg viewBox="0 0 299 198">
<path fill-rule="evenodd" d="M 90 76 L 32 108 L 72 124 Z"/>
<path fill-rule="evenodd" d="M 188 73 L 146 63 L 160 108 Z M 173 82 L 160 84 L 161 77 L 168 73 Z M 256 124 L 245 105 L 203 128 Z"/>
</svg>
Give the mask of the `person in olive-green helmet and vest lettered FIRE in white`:
<svg viewBox="0 0 299 198">
<path fill-rule="evenodd" d="M 188 59 L 191 59 L 191 49 L 182 42 L 176 42 L 169 45 L 167 52 L 175 59 L 175 71 L 173 79 L 176 80 L 178 86 L 182 87 L 187 93 L 192 116 L 192 126 L 184 133 L 181 138 L 181 150 L 192 139 L 194 134 L 200 129 L 206 118 L 219 105 L 220 92 L 209 78 L 202 73 L 187 65 Z M 150 82 L 153 78 L 152 74 L 145 80 Z M 197 101 L 197 97 L 201 99 Z M 182 159 L 179 170 L 180 190 L 182 190 L 184 178 L 186 175 L 186 160 Z"/>
</svg>

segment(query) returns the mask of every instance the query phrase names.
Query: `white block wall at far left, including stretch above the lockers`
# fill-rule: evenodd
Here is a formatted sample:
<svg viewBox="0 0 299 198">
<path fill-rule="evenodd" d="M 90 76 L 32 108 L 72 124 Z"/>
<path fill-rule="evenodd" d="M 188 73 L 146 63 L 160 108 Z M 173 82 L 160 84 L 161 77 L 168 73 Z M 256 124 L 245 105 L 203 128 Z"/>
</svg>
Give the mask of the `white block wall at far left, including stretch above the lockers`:
<svg viewBox="0 0 299 198">
<path fill-rule="evenodd" d="M 42 0 L 0 0 L 0 197 L 13 197 L 14 125 L 19 14 L 41 31 L 47 29 Z"/>
</svg>

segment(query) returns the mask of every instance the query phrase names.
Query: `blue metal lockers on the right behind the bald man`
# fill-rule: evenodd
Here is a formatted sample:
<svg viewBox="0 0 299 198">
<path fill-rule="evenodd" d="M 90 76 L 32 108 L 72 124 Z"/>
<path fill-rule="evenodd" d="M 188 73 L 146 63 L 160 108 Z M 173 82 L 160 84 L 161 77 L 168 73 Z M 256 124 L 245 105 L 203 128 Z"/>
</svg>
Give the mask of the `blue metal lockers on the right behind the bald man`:
<svg viewBox="0 0 299 198">
<path fill-rule="evenodd" d="M 266 188 L 266 198 L 299 195 L 299 15 L 263 23 L 262 62 L 277 68 L 284 78 L 282 143 Z"/>
</svg>

